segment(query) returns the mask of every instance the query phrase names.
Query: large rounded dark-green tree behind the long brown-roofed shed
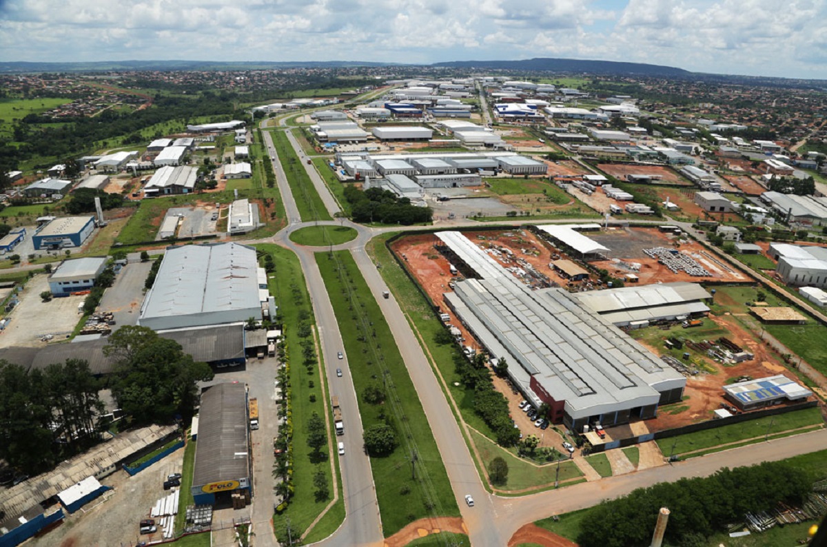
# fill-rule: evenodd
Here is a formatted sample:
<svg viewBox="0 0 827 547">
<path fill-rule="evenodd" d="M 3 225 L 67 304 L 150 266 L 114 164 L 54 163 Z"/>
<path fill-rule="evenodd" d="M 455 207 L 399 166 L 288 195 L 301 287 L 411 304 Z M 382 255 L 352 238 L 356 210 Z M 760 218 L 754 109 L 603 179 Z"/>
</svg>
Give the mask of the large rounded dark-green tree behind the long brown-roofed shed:
<svg viewBox="0 0 827 547">
<path fill-rule="evenodd" d="M 117 359 L 112 396 L 135 423 L 165 423 L 193 416 L 198 381 L 213 379 L 213 369 L 194 361 L 174 340 L 145 326 L 122 326 L 103 353 Z"/>
</svg>

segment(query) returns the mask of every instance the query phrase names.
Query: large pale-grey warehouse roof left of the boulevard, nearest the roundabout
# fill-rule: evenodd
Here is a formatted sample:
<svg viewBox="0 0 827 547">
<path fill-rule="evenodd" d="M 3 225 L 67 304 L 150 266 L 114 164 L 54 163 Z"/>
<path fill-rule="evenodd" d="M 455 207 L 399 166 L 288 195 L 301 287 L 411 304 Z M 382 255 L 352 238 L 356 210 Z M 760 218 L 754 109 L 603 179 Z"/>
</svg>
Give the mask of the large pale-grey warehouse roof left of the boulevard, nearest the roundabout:
<svg viewBox="0 0 827 547">
<path fill-rule="evenodd" d="M 155 331 L 261 319 L 256 250 L 237 243 L 167 249 L 138 324 Z"/>
</svg>

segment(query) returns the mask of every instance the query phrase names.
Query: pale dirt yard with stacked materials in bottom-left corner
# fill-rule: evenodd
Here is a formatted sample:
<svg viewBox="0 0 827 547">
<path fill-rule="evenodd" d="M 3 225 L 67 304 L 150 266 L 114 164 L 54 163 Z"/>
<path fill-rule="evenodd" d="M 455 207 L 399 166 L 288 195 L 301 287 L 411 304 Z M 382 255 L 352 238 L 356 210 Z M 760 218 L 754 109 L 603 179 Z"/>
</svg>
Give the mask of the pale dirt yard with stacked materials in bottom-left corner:
<svg viewBox="0 0 827 547">
<path fill-rule="evenodd" d="M 31 547 L 108 547 L 134 545 L 139 540 L 160 540 L 160 528 L 152 535 L 139 535 L 138 521 L 150 518 L 155 502 L 171 491 L 162 488 L 166 476 L 180 473 L 184 449 L 178 449 L 160 462 L 130 477 L 117 471 L 101 483 L 112 487 L 105 502 L 98 498 L 83 510 L 67 516 L 63 524 L 26 545 Z"/>
</svg>

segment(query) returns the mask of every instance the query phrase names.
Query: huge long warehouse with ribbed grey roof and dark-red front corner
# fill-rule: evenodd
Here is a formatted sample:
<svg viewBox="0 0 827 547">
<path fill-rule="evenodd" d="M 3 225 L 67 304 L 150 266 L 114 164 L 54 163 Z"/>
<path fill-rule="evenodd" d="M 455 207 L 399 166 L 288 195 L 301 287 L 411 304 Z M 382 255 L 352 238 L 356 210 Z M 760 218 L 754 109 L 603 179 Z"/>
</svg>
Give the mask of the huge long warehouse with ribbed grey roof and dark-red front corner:
<svg viewBox="0 0 827 547">
<path fill-rule="evenodd" d="M 448 307 L 523 394 L 551 407 L 572 430 L 657 416 L 680 401 L 681 376 L 643 346 L 559 288 L 531 291 L 458 232 L 437 232 L 462 269 L 476 274 L 445 293 Z"/>
</svg>

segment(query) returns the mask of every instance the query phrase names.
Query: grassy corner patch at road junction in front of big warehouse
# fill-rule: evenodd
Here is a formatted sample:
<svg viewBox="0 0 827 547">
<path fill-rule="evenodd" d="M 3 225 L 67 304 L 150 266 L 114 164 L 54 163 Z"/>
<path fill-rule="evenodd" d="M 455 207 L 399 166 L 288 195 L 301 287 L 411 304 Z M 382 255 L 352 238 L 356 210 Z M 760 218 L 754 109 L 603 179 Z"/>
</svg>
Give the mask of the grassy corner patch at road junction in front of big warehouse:
<svg viewBox="0 0 827 547">
<path fill-rule="evenodd" d="M 524 459 L 520 459 L 509 450 L 498 446 L 493 440 L 480 435 L 474 430 L 471 430 L 471 438 L 474 440 L 476 449 L 480 453 L 485 468 L 492 459 L 500 456 L 509 464 L 509 477 L 503 486 L 498 486 L 502 490 L 523 490 L 526 488 L 539 488 L 547 484 L 553 484 L 557 478 L 557 464 L 550 463 L 541 466 L 529 464 Z M 605 454 L 604 454 L 605 455 Z M 608 462 L 607 462 L 608 464 Z M 582 477 L 583 473 L 577 468 L 576 464 L 571 460 L 566 460 L 560 464 L 559 480 L 565 481 L 570 478 Z M 536 493 L 536 492 L 526 492 Z"/>
</svg>

